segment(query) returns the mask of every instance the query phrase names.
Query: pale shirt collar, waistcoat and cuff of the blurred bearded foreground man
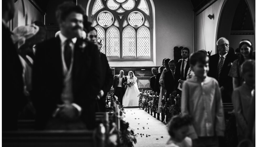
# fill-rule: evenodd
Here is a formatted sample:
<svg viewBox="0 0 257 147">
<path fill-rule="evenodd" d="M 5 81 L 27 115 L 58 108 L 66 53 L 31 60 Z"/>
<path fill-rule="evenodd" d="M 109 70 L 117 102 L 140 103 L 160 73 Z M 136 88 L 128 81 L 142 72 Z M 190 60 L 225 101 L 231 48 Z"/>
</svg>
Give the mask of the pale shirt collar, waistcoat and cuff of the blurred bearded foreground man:
<svg viewBox="0 0 257 147">
<path fill-rule="evenodd" d="M 78 106 L 77 104 L 72 103 L 73 102 L 73 91 L 72 91 L 73 54 L 74 54 L 74 46 L 77 41 L 77 38 L 72 38 L 71 40 L 73 43 L 69 44 L 71 46 L 72 55 L 71 55 L 71 65 L 68 70 L 67 66 L 65 64 L 65 60 L 64 60 L 64 46 L 65 46 L 65 41 L 67 40 L 67 38 L 62 33 L 59 34 L 59 37 L 61 40 L 62 71 L 63 71 L 63 76 L 64 76 L 64 80 L 63 80 L 64 88 L 61 93 L 61 99 L 64 104 L 72 104 L 72 106 L 77 108 L 79 111 L 79 115 L 80 115 L 82 108 L 80 106 Z"/>
</svg>

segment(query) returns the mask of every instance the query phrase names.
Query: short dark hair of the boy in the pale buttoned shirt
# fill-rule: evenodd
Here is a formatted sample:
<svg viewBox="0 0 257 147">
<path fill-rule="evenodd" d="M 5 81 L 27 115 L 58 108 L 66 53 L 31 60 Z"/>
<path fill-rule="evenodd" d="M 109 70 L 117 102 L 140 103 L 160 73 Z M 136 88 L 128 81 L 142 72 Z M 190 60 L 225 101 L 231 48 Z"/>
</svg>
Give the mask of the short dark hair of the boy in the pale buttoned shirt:
<svg viewBox="0 0 257 147">
<path fill-rule="evenodd" d="M 189 61 L 191 66 L 195 66 L 197 62 L 206 64 L 209 63 L 209 57 L 204 52 L 197 51 L 191 55 Z"/>
</svg>

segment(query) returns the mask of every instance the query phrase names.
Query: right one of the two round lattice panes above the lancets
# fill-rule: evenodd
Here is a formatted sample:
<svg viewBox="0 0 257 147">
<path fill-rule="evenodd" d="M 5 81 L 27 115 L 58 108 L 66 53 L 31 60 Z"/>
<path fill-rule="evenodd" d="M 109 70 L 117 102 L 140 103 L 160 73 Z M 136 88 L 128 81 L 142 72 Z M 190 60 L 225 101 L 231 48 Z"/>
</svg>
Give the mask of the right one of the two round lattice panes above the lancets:
<svg viewBox="0 0 257 147">
<path fill-rule="evenodd" d="M 144 16 L 138 11 L 133 11 L 128 15 L 128 23 L 133 27 L 140 27 L 144 23 Z"/>
</svg>

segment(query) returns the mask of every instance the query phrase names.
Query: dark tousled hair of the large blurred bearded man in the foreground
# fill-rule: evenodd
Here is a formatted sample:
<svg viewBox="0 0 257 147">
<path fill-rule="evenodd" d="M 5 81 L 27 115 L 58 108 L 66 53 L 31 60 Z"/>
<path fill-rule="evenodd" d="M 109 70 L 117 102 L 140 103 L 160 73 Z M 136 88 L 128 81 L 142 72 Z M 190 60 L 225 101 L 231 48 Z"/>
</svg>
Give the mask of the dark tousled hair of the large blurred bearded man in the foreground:
<svg viewBox="0 0 257 147">
<path fill-rule="evenodd" d="M 55 13 L 57 22 L 60 23 L 61 21 L 65 20 L 66 17 L 72 12 L 80 13 L 82 15 L 85 14 L 85 10 L 81 7 L 81 5 L 76 5 L 73 2 L 64 2 L 60 4 Z"/>
</svg>

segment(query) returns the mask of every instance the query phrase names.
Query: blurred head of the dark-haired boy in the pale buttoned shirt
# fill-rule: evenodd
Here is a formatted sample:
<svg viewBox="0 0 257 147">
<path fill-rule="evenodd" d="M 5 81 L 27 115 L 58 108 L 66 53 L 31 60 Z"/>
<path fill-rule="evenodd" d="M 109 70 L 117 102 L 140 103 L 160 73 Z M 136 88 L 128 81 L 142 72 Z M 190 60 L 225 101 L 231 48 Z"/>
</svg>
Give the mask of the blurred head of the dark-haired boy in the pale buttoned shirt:
<svg viewBox="0 0 257 147">
<path fill-rule="evenodd" d="M 197 51 L 190 56 L 190 66 L 197 77 L 205 77 L 209 71 L 209 57 L 202 51 Z"/>
</svg>

